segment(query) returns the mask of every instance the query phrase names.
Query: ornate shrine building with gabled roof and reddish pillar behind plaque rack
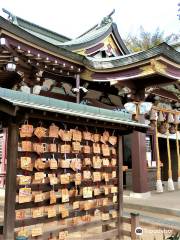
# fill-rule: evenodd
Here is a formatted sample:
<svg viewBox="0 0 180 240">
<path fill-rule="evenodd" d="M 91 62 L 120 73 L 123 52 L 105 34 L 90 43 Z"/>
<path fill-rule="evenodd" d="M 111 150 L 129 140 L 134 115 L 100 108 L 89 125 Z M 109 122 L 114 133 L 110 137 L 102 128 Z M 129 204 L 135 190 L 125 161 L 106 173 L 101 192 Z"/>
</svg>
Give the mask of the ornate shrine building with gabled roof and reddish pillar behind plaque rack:
<svg viewBox="0 0 180 240">
<path fill-rule="evenodd" d="M 180 53 L 168 44 L 130 53 L 112 14 L 69 39 L 7 13 L 9 20 L 0 18 L 1 87 L 113 110 L 132 101 L 156 104 L 159 98 L 178 110 Z M 133 139 L 139 148 L 145 145 L 145 135 Z M 146 149 L 138 152 L 132 150 L 133 191 L 141 193 L 149 188 Z"/>
</svg>

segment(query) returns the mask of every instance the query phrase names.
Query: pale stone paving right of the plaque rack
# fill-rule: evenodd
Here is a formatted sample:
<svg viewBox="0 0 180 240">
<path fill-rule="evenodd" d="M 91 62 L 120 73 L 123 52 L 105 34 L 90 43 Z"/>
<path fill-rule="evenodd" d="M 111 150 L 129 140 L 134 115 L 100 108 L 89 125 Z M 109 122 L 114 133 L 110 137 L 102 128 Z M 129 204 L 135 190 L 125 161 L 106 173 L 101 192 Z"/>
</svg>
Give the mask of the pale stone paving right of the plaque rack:
<svg viewBox="0 0 180 240">
<path fill-rule="evenodd" d="M 172 233 L 180 232 L 180 191 L 156 193 L 148 198 L 132 198 L 124 191 L 124 215 L 139 213 L 140 221 L 161 225 L 150 227 L 140 225 L 144 233 L 140 239 L 163 240 Z M 164 227 L 165 228 L 164 228 Z M 124 238 L 125 240 L 128 238 Z"/>
</svg>

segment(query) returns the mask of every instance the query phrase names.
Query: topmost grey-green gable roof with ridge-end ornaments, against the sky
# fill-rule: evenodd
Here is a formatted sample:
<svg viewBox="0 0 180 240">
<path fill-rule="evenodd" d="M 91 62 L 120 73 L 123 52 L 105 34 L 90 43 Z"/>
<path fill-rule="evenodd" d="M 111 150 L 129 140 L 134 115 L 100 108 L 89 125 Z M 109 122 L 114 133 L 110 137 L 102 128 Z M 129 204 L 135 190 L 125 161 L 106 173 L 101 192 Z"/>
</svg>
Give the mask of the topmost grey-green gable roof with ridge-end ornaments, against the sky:
<svg viewBox="0 0 180 240">
<path fill-rule="evenodd" d="M 26 32 L 38 37 L 48 43 L 51 43 L 55 46 L 63 47 L 70 51 L 78 51 L 80 49 L 88 49 L 91 48 L 100 42 L 103 42 L 105 38 L 107 38 L 110 34 L 116 40 L 117 46 L 122 52 L 122 54 L 128 54 L 129 50 L 125 46 L 119 32 L 117 29 L 117 25 L 112 21 L 111 13 L 107 17 L 105 17 L 100 24 L 95 25 L 90 30 L 86 31 L 81 36 L 70 39 L 63 35 L 60 35 L 54 31 L 36 25 L 32 22 L 29 22 L 25 19 L 22 19 L 18 16 L 14 16 L 7 10 L 4 10 L 7 14 L 9 14 L 9 18 L 11 22 L 18 27 L 22 28 Z"/>
</svg>

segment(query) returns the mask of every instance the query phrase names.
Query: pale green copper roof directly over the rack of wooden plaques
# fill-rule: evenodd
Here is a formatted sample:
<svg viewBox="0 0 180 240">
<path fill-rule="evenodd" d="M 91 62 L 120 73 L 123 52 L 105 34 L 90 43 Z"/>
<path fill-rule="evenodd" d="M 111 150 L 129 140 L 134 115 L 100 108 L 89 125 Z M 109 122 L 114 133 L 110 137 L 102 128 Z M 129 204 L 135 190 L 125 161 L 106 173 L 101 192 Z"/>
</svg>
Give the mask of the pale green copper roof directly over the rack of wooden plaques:
<svg viewBox="0 0 180 240">
<path fill-rule="evenodd" d="M 0 99 L 8 101 L 12 105 L 19 107 L 148 128 L 145 124 L 132 121 L 131 114 L 124 111 L 111 111 L 5 88 L 0 88 Z"/>
</svg>

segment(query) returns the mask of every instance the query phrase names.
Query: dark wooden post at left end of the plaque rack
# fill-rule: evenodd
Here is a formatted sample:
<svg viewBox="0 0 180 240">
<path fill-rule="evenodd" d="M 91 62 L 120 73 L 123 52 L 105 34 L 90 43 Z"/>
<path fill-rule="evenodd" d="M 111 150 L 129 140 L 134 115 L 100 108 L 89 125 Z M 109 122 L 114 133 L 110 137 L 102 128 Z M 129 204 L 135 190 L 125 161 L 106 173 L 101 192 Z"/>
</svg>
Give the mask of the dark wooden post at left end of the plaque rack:
<svg viewBox="0 0 180 240">
<path fill-rule="evenodd" d="M 7 172 L 4 208 L 4 239 L 14 239 L 15 202 L 16 202 L 16 168 L 18 151 L 18 126 L 10 123 L 8 127 Z"/>
</svg>

